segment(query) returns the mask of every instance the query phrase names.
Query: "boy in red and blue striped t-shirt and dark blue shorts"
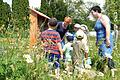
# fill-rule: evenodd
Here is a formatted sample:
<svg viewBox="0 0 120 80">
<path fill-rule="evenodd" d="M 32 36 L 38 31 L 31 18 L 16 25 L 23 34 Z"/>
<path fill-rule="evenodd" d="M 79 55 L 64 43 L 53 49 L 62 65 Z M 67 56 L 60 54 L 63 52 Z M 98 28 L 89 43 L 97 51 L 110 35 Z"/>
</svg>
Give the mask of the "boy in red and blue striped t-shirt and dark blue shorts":
<svg viewBox="0 0 120 80">
<path fill-rule="evenodd" d="M 51 63 L 49 66 L 53 67 L 53 65 L 55 65 L 56 78 L 59 78 L 59 59 L 62 56 L 62 47 L 60 43 L 60 35 L 56 30 L 54 30 L 56 28 L 56 25 L 57 19 L 51 18 L 48 21 L 49 28 L 41 33 L 41 40 L 46 51 L 48 63 Z"/>
</svg>

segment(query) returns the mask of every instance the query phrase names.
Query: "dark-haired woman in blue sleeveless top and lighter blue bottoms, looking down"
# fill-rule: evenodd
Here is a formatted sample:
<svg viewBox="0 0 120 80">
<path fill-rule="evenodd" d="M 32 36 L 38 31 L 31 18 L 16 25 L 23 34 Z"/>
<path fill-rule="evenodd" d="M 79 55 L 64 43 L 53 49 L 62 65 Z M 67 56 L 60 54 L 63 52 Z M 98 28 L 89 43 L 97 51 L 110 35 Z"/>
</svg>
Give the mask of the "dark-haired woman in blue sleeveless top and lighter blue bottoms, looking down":
<svg viewBox="0 0 120 80">
<path fill-rule="evenodd" d="M 91 14 L 97 19 L 94 29 L 96 31 L 96 45 L 99 48 L 98 54 L 108 60 L 108 67 L 114 68 L 112 61 L 113 36 L 111 34 L 111 22 L 108 16 L 101 13 L 99 6 L 94 6 L 90 10 Z"/>
</svg>

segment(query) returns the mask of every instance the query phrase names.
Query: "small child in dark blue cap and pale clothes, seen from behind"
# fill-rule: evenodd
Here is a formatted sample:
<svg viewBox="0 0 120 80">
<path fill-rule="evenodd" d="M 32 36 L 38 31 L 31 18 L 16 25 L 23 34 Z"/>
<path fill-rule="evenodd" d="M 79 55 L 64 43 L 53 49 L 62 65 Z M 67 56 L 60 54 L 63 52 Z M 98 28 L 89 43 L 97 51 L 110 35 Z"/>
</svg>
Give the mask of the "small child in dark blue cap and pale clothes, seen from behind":
<svg viewBox="0 0 120 80">
<path fill-rule="evenodd" d="M 63 52 L 65 54 L 65 70 L 68 72 L 68 74 L 71 74 L 71 68 L 72 68 L 72 54 L 73 54 L 73 40 L 74 37 L 72 35 L 67 35 L 67 43 L 63 47 Z"/>
</svg>

